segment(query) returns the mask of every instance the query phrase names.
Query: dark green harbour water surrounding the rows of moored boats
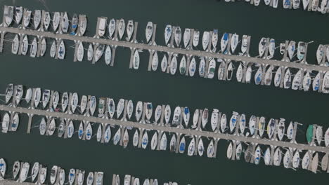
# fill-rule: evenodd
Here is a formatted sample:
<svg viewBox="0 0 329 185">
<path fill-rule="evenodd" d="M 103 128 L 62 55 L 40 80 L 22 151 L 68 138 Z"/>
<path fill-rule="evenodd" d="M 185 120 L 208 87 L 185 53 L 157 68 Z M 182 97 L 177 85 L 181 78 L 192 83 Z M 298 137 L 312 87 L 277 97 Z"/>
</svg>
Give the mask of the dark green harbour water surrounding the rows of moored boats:
<svg viewBox="0 0 329 185">
<path fill-rule="evenodd" d="M 12 5 L 12 1 L 1 1 L 1 5 Z M 281 2 L 280 2 L 281 3 Z M 15 1 L 15 5 L 30 9 L 44 9 L 39 1 Z M 89 36 L 94 34 L 96 18 L 124 18 L 138 21 L 138 41 L 144 39 L 148 21 L 157 24 L 157 44 L 164 43 L 165 25 L 180 25 L 181 28 L 198 28 L 201 32 L 219 29 L 219 32 L 237 32 L 252 36 L 251 55 L 257 55 L 257 46 L 262 36 L 276 39 L 314 41 L 309 47 L 308 62 L 316 63 L 315 51 L 319 43 L 329 43 L 328 15 L 292 11 L 283 8 L 254 7 L 245 3 L 226 4 L 218 1 L 46 1 L 49 11 L 67 11 L 86 14 L 89 19 Z M 6 38 L 12 38 L 7 34 Z M 73 43 L 66 43 L 72 46 Z M 299 141 L 304 141 L 304 131 L 309 124 L 327 124 L 328 95 L 283 90 L 274 87 L 241 84 L 235 80 L 217 81 L 176 74 L 169 76 L 160 71 L 148 72 L 148 53 L 141 54 L 138 71 L 129 70 L 130 50 L 118 48 L 115 67 L 104 62 L 91 65 L 86 60 L 73 61 L 73 48 L 67 50 L 65 60 L 51 57 L 31 58 L 12 55 L 11 44 L 5 43 L 0 55 L 0 91 L 8 83 L 41 87 L 60 92 L 79 92 L 79 95 L 97 97 L 120 97 L 154 104 L 171 104 L 195 108 L 218 108 L 245 113 L 247 118 L 254 114 L 266 118 L 286 118 L 304 123 L 299 127 Z M 68 48 L 68 47 L 67 47 Z M 49 52 L 47 53 L 49 56 Z M 161 57 L 160 57 L 161 58 Z M 236 66 L 237 67 L 237 66 Z M 39 118 L 34 118 L 34 125 Z M 77 124 L 75 125 L 77 128 Z M 86 171 L 105 172 L 105 183 L 110 184 L 112 174 L 178 181 L 179 184 L 321 184 L 328 174 L 313 174 L 305 170 L 287 170 L 284 167 L 266 167 L 226 159 L 228 142 L 219 142 L 217 158 L 188 157 L 168 151 L 122 149 L 112 144 L 99 144 L 96 139 L 82 142 L 77 139 L 60 139 L 40 136 L 37 128 L 31 135 L 25 134 L 27 118 L 22 120 L 16 133 L 0 134 L 0 156 L 10 165 L 14 160 L 59 165 Z M 96 127 L 95 127 L 96 129 Z M 302 132 L 303 131 L 303 132 Z M 131 135 L 132 137 L 132 135 Z M 150 135 L 149 135 L 150 137 Z M 11 168 L 11 166 L 10 166 Z M 11 169 L 9 169 L 11 170 Z"/>
</svg>

